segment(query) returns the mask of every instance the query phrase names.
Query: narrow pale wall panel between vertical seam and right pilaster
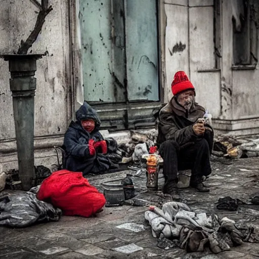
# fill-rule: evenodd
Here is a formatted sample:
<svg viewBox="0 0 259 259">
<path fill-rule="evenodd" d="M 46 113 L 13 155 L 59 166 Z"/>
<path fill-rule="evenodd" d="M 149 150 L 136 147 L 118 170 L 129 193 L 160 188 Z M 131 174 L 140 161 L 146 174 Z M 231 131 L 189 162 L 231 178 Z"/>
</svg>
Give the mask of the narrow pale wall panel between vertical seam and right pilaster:
<svg viewBox="0 0 259 259">
<path fill-rule="evenodd" d="M 218 118 L 221 90 L 220 71 L 215 67 L 213 1 L 189 1 L 189 6 L 190 78 L 197 102 Z"/>
</svg>

